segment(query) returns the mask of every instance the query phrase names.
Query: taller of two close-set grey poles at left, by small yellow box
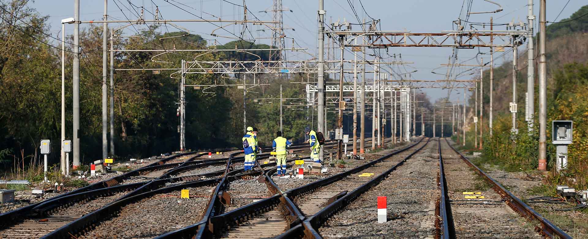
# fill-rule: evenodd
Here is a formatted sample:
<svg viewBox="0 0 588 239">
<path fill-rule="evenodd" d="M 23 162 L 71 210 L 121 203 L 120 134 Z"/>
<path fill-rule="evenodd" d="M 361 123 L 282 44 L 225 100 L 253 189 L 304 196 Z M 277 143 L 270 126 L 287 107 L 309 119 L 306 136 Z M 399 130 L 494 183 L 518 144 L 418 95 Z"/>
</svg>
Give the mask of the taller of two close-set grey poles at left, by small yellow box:
<svg viewBox="0 0 588 239">
<path fill-rule="evenodd" d="M 104 23 L 102 24 L 102 159 L 108 158 L 108 89 L 106 87 L 107 62 L 108 62 L 108 0 L 104 0 Z"/>
</svg>

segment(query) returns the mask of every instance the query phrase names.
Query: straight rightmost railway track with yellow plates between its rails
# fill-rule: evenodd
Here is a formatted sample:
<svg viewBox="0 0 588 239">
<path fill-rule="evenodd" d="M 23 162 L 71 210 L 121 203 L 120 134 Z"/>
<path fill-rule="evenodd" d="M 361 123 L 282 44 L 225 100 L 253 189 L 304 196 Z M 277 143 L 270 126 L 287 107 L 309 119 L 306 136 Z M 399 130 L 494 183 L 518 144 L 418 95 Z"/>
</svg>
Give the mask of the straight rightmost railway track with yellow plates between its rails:
<svg viewBox="0 0 588 239">
<path fill-rule="evenodd" d="M 473 165 L 446 139 L 439 140 L 438 150 L 439 237 L 572 238 Z M 477 191 L 480 194 L 473 196 L 484 198 L 465 200 L 463 191 Z"/>
</svg>

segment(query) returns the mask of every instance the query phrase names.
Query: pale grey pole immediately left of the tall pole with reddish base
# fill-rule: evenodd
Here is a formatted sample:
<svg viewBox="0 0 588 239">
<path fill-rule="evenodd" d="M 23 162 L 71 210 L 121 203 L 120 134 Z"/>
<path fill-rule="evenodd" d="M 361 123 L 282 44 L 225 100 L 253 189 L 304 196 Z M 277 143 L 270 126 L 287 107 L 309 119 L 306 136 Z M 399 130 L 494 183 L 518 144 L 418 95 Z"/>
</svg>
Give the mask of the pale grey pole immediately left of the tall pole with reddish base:
<svg viewBox="0 0 588 239">
<path fill-rule="evenodd" d="M 535 114 L 535 69 L 533 64 L 533 57 L 534 55 L 534 42 L 533 42 L 533 20 L 535 16 L 533 15 L 533 0 L 529 0 L 529 14 L 527 18 L 529 19 L 529 33 L 527 34 L 527 125 L 529 127 L 529 132 L 533 131 L 533 121 L 534 121 L 534 114 Z"/>
</svg>

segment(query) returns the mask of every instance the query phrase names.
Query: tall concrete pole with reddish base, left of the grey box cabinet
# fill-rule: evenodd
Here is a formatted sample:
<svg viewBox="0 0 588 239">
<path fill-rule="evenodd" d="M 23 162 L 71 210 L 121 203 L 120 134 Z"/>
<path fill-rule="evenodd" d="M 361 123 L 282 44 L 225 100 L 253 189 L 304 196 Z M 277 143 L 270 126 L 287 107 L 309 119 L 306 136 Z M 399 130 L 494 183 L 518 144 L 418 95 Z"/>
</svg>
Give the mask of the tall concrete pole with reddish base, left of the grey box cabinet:
<svg viewBox="0 0 588 239">
<path fill-rule="evenodd" d="M 539 166 L 547 170 L 547 59 L 545 58 L 545 4 L 539 0 Z"/>
</svg>

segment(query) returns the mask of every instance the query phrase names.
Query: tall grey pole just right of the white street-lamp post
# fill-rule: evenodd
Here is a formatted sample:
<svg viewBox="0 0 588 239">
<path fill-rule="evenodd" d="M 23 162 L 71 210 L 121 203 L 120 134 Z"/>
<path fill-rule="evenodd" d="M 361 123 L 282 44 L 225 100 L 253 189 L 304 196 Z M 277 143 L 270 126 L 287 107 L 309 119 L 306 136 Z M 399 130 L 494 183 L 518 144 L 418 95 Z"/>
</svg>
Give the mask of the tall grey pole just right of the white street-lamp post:
<svg viewBox="0 0 588 239">
<path fill-rule="evenodd" d="M 74 108 L 74 138 L 73 146 L 74 148 L 74 170 L 79 166 L 79 155 L 80 155 L 80 148 L 79 148 L 79 0 L 74 0 L 74 64 L 73 64 L 73 73 L 74 76 L 72 77 L 72 88 L 73 88 L 73 108 Z"/>
</svg>

